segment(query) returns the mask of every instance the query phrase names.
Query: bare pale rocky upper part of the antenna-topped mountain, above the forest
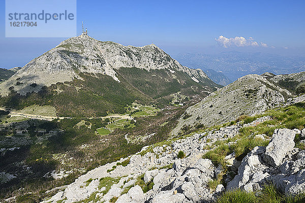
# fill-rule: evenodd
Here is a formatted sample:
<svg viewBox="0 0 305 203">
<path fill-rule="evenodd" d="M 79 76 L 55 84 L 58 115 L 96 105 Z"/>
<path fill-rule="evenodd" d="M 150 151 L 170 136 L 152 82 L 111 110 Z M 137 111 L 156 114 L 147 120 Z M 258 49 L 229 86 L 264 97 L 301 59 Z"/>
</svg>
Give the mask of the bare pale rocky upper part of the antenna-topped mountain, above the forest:
<svg viewBox="0 0 305 203">
<path fill-rule="evenodd" d="M 117 73 L 120 67 L 136 67 L 148 72 L 166 70 L 172 78 L 178 80 L 176 72 L 181 72 L 196 83 L 220 87 L 210 81 L 202 70 L 182 66 L 154 44 L 143 47 L 123 46 L 80 35 L 65 40 L 24 65 L 13 77 L 0 85 L 0 92 L 2 95 L 8 95 L 12 89 L 21 95 L 38 92 L 43 86 L 74 79 L 83 80 L 79 73 L 108 75 L 120 82 Z"/>
</svg>

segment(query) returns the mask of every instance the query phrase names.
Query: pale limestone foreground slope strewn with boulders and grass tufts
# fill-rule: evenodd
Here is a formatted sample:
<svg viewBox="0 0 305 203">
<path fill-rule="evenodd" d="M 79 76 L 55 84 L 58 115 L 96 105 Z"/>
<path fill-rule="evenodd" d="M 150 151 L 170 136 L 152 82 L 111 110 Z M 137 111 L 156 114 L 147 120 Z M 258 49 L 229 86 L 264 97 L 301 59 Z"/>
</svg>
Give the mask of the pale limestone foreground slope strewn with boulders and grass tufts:
<svg viewBox="0 0 305 203">
<path fill-rule="evenodd" d="M 43 202 L 156 203 L 215 200 L 225 190 L 224 185 L 218 184 L 216 189 L 212 189 L 209 183 L 223 173 L 222 166 L 202 156 L 214 150 L 221 141 L 228 141 L 225 142 L 227 146 L 238 142 L 234 138 L 241 127 L 256 126 L 270 119 L 264 116 L 248 124 L 221 127 L 219 130 L 146 146 L 135 155 L 97 167 L 80 176 L 74 183 L 53 189 L 58 192 Z M 226 156 L 230 174 L 225 178 L 226 189 L 259 191 L 270 181 L 287 194 L 303 192 L 305 150 L 294 147 L 296 134 L 305 138 L 305 129 L 276 129 L 267 147 L 255 147 L 242 161 L 235 157 L 234 152 Z M 259 134 L 252 139 L 268 141 L 270 138 Z M 180 151 L 186 154 L 185 158 L 177 158 Z M 121 165 L 126 160 L 128 164 Z"/>
</svg>

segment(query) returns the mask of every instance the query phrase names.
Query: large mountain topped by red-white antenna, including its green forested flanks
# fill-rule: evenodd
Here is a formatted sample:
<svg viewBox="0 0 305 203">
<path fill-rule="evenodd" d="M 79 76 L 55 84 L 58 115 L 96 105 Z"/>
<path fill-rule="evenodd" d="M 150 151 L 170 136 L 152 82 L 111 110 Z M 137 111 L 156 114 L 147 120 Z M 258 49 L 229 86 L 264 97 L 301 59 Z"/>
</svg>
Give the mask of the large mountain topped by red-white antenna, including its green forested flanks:
<svg viewBox="0 0 305 203">
<path fill-rule="evenodd" d="M 31 60 L 0 84 L 0 105 L 51 105 L 63 117 L 105 116 L 124 113 L 136 100 L 166 106 L 174 93 L 198 100 L 220 87 L 154 44 L 123 46 L 81 35 Z"/>
</svg>

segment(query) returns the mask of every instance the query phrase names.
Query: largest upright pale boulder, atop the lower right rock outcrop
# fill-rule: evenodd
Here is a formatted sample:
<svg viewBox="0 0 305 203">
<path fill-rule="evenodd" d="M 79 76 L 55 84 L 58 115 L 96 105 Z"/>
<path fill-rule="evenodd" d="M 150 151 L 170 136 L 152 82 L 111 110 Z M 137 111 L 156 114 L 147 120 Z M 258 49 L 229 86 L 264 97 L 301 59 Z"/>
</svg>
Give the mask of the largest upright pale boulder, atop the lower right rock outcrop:
<svg viewBox="0 0 305 203">
<path fill-rule="evenodd" d="M 272 166 L 279 166 L 287 153 L 293 150 L 295 131 L 282 128 L 273 132 L 272 139 L 266 147 L 265 161 Z"/>
</svg>

